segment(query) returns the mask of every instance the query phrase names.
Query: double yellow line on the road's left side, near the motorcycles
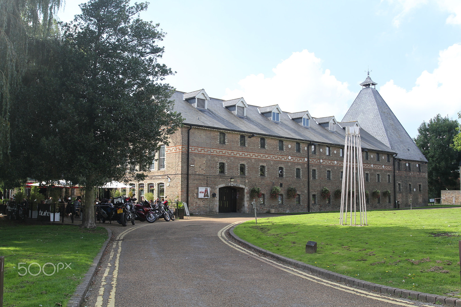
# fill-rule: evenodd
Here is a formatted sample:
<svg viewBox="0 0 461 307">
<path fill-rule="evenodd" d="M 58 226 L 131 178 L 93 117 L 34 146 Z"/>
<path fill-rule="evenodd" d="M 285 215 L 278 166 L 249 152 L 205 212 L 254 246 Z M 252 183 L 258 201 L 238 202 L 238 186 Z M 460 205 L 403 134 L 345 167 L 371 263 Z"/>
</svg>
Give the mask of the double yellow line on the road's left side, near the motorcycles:
<svg viewBox="0 0 461 307">
<path fill-rule="evenodd" d="M 115 289 L 116 289 L 116 286 L 117 286 L 117 276 L 118 276 L 118 263 L 119 263 L 119 260 L 120 260 L 120 254 L 122 253 L 122 239 L 124 238 L 124 236 L 126 236 L 127 234 L 129 234 L 131 231 L 133 230 L 136 230 L 138 228 L 141 228 L 141 227 L 144 227 L 144 226 L 147 226 L 149 224 L 142 224 L 140 226 L 136 226 L 136 227 L 132 227 L 130 229 L 127 229 L 123 232 L 121 232 L 117 238 L 115 239 L 115 242 L 112 244 L 112 249 L 111 249 L 111 253 L 109 254 L 109 259 L 107 261 L 107 266 L 106 266 L 106 270 L 104 271 L 104 274 L 102 275 L 102 278 L 101 278 L 101 286 L 99 288 L 99 293 L 98 293 L 98 297 L 96 299 L 96 304 L 95 304 L 95 307 L 102 307 L 103 305 L 103 295 L 104 295 L 104 290 L 106 289 L 106 284 L 108 283 L 107 282 L 107 277 L 109 276 L 109 272 L 111 271 L 111 267 L 112 267 L 112 260 L 114 259 L 114 256 L 115 256 L 115 262 L 114 262 L 114 269 L 113 269 L 113 272 L 112 272 L 112 277 L 109 277 L 111 279 L 110 283 L 112 285 L 112 289 L 111 289 L 111 292 L 109 294 L 109 299 L 107 301 L 107 307 L 115 307 Z M 115 253 L 115 248 L 116 248 L 116 245 L 117 245 L 117 252 Z"/>
</svg>

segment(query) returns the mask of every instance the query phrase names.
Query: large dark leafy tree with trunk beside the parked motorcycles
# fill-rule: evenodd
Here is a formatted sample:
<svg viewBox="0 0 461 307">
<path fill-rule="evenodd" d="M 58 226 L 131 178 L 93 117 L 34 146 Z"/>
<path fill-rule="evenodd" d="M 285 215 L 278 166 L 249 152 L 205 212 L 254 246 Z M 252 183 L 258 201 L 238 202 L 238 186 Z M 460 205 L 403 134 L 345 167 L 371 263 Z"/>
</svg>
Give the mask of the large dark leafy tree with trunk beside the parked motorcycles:
<svg viewBox="0 0 461 307">
<path fill-rule="evenodd" d="M 143 179 L 129 165 L 147 171 L 159 143 L 167 144 L 182 122 L 172 111 L 171 86 L 162 83 L 171 74 L 158 62 L 164 33 L 136 18 L 146 3 L 128 2 L 81 5 L 82 14 L 63 27 L 61 45 L 50 49 L 56 65 L 35 67 L 18 94 L 23 105 L 12 114 L 17 168 L 84 186 L 89 228 L 95 227 L 94 187 Z"/>
</svg>

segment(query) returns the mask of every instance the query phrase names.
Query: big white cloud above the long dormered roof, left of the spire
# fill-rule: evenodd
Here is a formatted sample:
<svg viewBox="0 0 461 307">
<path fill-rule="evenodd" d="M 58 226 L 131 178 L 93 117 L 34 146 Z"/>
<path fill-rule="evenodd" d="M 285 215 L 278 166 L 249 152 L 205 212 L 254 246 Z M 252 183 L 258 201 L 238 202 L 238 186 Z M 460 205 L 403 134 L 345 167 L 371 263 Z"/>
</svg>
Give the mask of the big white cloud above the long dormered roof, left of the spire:
<svg viewBox="0 0 461 307">
<path fill-rule="evenodd" d="M 322 60 L 307 50 L 294 52 L 272 69 L 273 77 L 250 75 L 240 89 L 225 89 L 224 100 L 243 97 L 248 104 L 278 104 L 285 112 L 309 111 L 313 117 L 334 115 L 341 120 L 357 93 L 322 69 Z"/>
</svg>

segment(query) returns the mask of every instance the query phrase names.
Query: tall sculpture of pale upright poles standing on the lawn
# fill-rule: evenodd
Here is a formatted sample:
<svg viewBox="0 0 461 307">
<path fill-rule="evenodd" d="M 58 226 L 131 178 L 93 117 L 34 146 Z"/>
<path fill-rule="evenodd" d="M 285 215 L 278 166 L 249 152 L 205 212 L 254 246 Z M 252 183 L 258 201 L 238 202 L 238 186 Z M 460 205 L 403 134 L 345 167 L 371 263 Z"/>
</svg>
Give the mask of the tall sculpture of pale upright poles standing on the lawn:
<svg viewBox="0 0 461 307">
<path fill-rule="evenodd" d="M 348 211 L 350 213 L 349 224 L 358 224 L 356 213 L 357 205 L 359 205 L 360 224 L 367 225 L 363 174 L 360 127 L 358 125 L 348 126 L 346 127 L 346 138 L 344 140 L 343 184 L 339 224 L 348 224 Z M 357 191 L 356 188 L 359 190 Z M 352 215 L 354 215 L 354 222 L 352 222 Z"/>
</svg>

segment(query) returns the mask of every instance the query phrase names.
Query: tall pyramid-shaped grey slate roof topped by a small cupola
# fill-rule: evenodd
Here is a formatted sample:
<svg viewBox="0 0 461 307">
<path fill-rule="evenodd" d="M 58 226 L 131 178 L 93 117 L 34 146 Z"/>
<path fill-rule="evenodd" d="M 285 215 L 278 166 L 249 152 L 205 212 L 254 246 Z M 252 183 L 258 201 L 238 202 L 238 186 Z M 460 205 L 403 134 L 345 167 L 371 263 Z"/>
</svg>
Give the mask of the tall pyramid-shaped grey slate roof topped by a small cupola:
<svg viewBox="0 0 461 307">
<path fill-rule="evenodd" d="M 350 121 L 358 121 L 364 130 L 396 151 L 397 158 L 427 161 L 376 89 L 365 87 L 360 91 L 342 120 Z"/>
</svg>

